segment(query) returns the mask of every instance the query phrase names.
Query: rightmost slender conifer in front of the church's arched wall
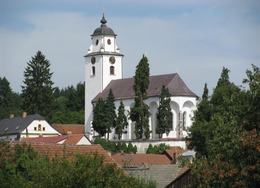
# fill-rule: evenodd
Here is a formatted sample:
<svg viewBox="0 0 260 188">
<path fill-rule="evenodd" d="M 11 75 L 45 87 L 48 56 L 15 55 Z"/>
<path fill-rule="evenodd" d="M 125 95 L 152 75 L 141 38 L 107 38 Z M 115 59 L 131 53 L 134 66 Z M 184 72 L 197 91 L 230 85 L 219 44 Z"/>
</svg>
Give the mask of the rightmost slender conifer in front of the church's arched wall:
<svg viewBox="0 0 260 188">
<path fill-rule="evenodd" d="M 161 95 L 160 95 L 160 105 L 158 107 L 158 124 L 155 129 L 156 134 L 159 134 L 159 138 L 162 138 L 162 135 L 166 133 L 166 136 L 170 133 L 169 124 L 171 121 L 170 113 L 171 113 L 171 93 L 169 92 L 169 88 L 165 88 L 165 85 L 162 85 Z"/>
</svg>

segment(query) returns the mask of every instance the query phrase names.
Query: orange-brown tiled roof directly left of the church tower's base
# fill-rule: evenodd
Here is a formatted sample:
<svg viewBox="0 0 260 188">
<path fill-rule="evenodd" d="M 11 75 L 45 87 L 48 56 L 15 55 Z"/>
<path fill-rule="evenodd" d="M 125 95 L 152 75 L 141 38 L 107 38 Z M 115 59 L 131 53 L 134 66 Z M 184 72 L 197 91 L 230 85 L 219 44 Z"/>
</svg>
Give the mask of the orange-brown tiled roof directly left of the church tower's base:
<svg viewBox="0 0 260 188">
<path fill-rule="evenodd" d="M 62 135 L 66 135 L 68 131 L 72 134 L 84 134 L 85 125 L 78 124 L 52 124 L 52 127 L 59 131 Z"/>
</svg>

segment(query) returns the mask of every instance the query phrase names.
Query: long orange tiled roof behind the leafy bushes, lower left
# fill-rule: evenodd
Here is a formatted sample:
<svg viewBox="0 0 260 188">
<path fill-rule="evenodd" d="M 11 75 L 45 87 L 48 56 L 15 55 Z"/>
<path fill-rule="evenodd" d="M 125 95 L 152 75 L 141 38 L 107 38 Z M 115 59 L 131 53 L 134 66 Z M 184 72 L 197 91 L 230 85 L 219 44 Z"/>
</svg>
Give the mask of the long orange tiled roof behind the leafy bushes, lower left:
<svg viewBox="0 0 260 188">
<path fill-rule="evenodd" d="M 10 142 L 10 150 L 14 151 L 15 144 L 22 144 L 23 142 Z M 100 145 L 64 145 L 64 144 L 53 144 L 53 143 L 33 143 L 28 142 L 31 147 L 38 152 L 40 155 L 47 155 L 50 160 L 57 155 L 58 158 L 62 158 L 63 156 L 63 148 L 65 147 L 65 154 L 70 153 L 91 153 L 98 151 L 100 155 L 104 155 L 104 163 L 114 163 L 115 161 L 111 158 L 108 153 L 100 146 Z M 68 155 L 68 158 L 69 155 Z M 120 168 L 119 165 L 117 165 Z"/>
</svg>

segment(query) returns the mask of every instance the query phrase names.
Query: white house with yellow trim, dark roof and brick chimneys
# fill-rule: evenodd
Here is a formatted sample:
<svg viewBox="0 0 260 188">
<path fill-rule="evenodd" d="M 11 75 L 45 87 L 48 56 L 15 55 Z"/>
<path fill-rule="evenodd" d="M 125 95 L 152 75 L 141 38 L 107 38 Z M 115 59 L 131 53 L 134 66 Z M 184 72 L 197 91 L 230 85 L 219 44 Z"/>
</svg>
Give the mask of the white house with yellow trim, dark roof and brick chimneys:
<svg viewBox="0 0 260 188">
<path fill-rule="evenodd" d="M 38 137 L 39 135 L 58 136 L 61 135 L 48 121 L 39 114 L 28 115 L 23 112 L 23 116 L 14 117 L 0 121 L 0 137 L 9 137 L 10 140 L 20 140 L 23 137 Z"/>
</svg>

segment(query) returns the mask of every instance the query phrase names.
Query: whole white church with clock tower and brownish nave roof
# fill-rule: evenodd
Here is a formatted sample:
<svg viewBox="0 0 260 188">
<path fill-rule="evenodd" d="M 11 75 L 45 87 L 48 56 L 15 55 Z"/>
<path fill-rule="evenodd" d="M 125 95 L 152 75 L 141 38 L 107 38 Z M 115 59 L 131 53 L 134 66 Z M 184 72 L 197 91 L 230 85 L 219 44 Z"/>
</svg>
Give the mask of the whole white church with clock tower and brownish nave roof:
<svg viewBox="0 0 260 188">
<path fill-rule="evenodd" d="M 104 17 L 100 21 L 101 26 L 95 29 L 91 35 L 92 44 L 85 55 L 85 133 L 88 133 L 92 140 L 98 136 L 92 128 L 93 106 L 99 97 L 106 99 L 109 89 L 113 90 L 115 96 L 115 106 L 119 107 L 122 100 L 126 109 L 130 110 L 134 106 L 134 78 L 123 78 L 123 54 L 116 45 L 116 34 L 106 26 Z M 138 63 L 138 62 L 137 62 Z M 136 65 L 135 65 L 136 66 Z M 159 96 L 162 85 L 169 88 L 171 93 L 171 124 L 168 137 L 163 134 L 163 138 L 181 138 L 186 134 L 186 128 L 191 125 L 190 115 L 196 108 L 196 94 L 193 93 L 182 81 L 177 73 L 167 75 L 156 75 L 149 77 L 150 84 L 147 90 L 149 99 L 145 101 L 150 107 L 150 135 L 151 139 L 159 138 L 155 133 L 157 126 L 157 113 L 159 106 Z M 117 109 L 116 109 L 117 112 Z M 134 134 L 134 122 L 128 120 L 129 125 L 125 128 L 127 134 L 122 135 L 122 140 L 136 139 Z M 118 135 L 112 129 L 109 140 L 115 140 Z M 145 138 L 143 136 L 143 138 Z"/>
</svg>

